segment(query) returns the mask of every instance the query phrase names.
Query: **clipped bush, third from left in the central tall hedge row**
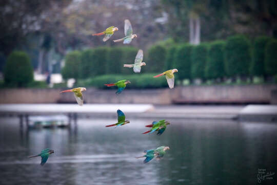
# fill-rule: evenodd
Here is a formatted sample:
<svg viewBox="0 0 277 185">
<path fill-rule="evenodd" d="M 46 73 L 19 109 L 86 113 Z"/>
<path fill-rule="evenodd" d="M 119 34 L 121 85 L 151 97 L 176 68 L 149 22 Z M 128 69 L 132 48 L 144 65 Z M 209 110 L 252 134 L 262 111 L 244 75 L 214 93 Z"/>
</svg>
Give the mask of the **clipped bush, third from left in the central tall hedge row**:
<svg viewBox="0 0 277 185">
<path fill-rule="evenodd" d="M 106 73 L 108 52 L 108 47 L 98 47 L 93 49 L 90 77 L 95 77 Z"/>
</svg>

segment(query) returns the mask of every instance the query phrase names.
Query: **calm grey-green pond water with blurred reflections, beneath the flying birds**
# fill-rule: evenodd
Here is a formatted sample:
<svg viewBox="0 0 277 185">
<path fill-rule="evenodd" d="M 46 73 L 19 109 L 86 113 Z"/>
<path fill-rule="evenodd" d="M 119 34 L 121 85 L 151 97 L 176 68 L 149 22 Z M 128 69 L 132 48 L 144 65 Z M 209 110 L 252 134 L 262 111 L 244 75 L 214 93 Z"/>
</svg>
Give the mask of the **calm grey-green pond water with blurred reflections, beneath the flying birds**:
<svg viewBox="0 0 277 185">
<path fill-rule="evenodd" d="M 255 184 L 258 169 L 277 173 L 277 125 L 232 121 L 170 120 L 162 136 L 142 135 L 152 120 L 117 128 L 108 119 L 78 120 L 68 129 L 19 134 L 17 119 L 0 123 L 0 184 Z M 167 145 L 147 164 L 147 149 Z M 47 163 L 28 158 L 50 147 Z M 267 180 L 264 183 L 274 183 Z"/>
</svg>

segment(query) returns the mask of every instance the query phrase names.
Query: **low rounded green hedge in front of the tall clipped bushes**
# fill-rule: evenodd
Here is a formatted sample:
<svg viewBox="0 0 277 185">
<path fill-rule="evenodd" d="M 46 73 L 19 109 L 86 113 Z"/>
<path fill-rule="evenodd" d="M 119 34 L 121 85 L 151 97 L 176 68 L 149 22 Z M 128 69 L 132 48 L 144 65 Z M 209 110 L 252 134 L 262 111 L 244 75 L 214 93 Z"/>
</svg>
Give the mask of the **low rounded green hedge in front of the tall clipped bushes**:
<svg viewBox="0 0 277 185">
<path fill-rule="evenodd" d="M 133 74 L 133 75 L 102 75 L 95 78 L 90 78 L 85 81 L 78 82 L 78 85 L 85 87 L 94 86 L 98 88 L 111 89 L 104 84 L 115 83 L 119 80 L 130 80 L 131 84 L 127 88 L 159 88 L 167 87 L 165 78 L 153 78 L 156 73 L 144 73 L 144 74 Z"/>
</svg>

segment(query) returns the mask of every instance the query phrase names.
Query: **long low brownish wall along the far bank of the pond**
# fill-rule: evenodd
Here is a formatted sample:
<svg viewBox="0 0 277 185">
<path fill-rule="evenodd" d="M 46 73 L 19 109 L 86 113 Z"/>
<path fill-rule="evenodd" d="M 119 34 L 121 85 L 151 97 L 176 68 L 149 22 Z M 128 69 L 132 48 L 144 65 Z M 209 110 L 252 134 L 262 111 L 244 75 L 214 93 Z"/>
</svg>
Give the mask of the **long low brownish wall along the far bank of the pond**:
<svg viewBox="0 0 277 185">
<path fill-rule="evenodd" d="M 217 85 L 184 86 L 174 89 L 125 89 L 116 95 L 116 89 L 87 88 L 85 103 L 270 103 L 271 90 L 277 85 Z M 71 93 L 64 89 L 1 89 L 0 103 L 75 103 Z"/>
</svg>

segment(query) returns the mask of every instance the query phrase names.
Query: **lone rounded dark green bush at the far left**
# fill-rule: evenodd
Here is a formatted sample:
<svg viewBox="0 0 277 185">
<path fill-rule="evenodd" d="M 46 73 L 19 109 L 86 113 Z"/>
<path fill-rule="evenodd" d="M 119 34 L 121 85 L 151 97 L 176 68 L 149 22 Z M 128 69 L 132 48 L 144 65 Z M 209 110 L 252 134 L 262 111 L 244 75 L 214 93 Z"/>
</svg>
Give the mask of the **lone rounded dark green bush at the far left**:
<svg viewBox="0 0 277 185">
<path fill-rule="evenodd" d="M 8 56 L 4 81 L 6 85 L 17 87 L 25 87 L 33 81 L 33 67 L 25 52 L 14 51 Z"/>
</svg>

